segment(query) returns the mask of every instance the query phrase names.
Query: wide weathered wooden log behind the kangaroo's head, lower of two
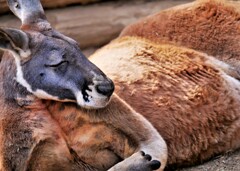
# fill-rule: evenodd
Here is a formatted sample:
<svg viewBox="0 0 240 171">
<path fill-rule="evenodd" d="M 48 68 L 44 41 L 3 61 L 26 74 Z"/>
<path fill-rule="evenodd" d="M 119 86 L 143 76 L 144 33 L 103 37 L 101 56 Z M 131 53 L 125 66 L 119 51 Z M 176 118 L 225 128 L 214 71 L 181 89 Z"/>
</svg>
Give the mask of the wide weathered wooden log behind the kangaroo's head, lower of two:
<svg viewBox="0 0 240 171">
<path fill-rule="evenodd" d="M 77 40 L 81 48 L 87 48 L 109 42 L 139 18 L 190 1 L 112 1 L 47 10 L 46 14 L 54 28 Z M 5 15 L 0 17 L 0 26 L 19 28 L 20 22 L 12 15 Z"/>
</svg>

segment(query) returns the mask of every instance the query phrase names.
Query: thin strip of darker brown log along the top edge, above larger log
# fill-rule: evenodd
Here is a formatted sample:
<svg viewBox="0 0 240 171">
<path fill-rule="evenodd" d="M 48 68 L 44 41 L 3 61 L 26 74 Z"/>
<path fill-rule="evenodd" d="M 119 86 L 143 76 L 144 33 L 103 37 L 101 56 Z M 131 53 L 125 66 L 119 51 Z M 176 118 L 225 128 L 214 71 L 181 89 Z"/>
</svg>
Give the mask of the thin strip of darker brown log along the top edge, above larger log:
<svg viewBox="0 0 240 171">
<path fill-rule="evenodd" d="M 100 0 L 41 0 L 45 8 L 64 7 L 72 4 L 88 4 Z M 9 11 L 6 0 L 0 0 L 0 14 Z"/>
</svg>

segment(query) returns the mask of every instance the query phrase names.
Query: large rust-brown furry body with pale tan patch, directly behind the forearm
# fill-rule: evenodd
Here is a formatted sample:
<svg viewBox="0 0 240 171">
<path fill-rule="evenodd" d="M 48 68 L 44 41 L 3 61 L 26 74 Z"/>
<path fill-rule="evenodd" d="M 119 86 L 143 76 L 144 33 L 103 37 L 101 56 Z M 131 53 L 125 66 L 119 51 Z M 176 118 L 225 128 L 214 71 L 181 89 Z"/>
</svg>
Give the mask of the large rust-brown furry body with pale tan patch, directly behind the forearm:
<svg viewBox="0 0 240 171">
<path fill-rule="evenodd" d="M 157 128 L 168 145 L 169 167 L 240 146 L 239 89 L 209 56 L 127 37 L 91 60 L 115 81 L 116 93 Z"/>
</svg>

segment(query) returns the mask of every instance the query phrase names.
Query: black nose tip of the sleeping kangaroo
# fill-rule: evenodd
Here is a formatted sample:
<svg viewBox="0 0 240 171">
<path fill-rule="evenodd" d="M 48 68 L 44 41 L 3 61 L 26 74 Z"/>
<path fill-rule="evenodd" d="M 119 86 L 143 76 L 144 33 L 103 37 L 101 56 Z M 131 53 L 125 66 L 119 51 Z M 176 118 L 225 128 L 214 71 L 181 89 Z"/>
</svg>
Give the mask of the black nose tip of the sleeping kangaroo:
<svg viewBox="0 0 240 171">
<path fill-rule="evenodd" d="M 105 95 L 111 96 L 114 91 L 114 83 L 112 80 L 108 79 L 107 81 L 103 81 L 96 86 L 97 92 Z"/>
</svg>

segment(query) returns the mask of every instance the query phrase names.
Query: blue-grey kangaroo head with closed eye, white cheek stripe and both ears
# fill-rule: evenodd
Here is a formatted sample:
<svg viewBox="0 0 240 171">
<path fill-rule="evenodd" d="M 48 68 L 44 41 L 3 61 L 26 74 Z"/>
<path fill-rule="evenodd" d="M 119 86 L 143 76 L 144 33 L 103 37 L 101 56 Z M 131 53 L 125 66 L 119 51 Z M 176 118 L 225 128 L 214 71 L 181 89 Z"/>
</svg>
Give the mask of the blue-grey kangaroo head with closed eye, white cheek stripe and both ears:
<svg viewBox="0 0 240 171">
<path fill-rule="evenodd" d="M 16 80 L 42 99 L 105 107 L 114 84 L 92 64 L 71 38 L 51 28 L 39 0 L 9 0 L 21 30 L 1 28 L 0 48 L 16 61 Z"/>
</svg>

